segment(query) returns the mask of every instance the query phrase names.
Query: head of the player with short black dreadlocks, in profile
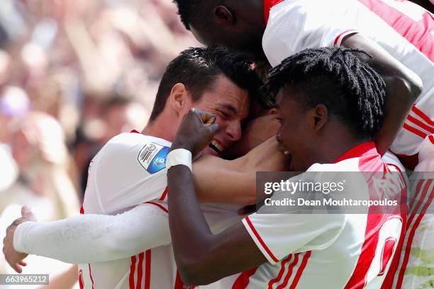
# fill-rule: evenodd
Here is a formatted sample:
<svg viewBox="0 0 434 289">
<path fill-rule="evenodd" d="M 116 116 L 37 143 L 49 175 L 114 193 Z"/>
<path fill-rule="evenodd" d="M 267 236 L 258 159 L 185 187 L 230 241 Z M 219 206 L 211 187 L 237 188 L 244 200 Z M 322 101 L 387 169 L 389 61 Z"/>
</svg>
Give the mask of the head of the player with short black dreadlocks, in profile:
<svg viewBox="0 0 434 289">
<path fill-rule="evenodd" d="M 333 162 L 347 149 L 373 140 L 382 125 L 384 81 L 355 53 L 364 52 L 307 49 L 269 73 L 269 86 L 279 91 L 277 140 L 289 153 L 292 170 Z"/>
</svg>

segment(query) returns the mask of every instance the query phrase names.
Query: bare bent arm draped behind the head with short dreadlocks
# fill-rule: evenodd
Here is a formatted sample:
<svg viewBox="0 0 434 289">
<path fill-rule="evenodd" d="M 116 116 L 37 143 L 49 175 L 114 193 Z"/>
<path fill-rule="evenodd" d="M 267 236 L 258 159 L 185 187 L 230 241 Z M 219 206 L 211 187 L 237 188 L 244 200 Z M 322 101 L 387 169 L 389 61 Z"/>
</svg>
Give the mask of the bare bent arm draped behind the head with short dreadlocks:
<svg viewBox="0 0 434 289">
<path fill-rule="evenodd" d="M 386 82 L 386 113 L 381 130 L 375 137 L 379 154 L 384 154 L 391 146 L 404 121 L 422 91 L 422 81 L 411 69 L 408 69 L 389 55 L 377 42 L 361 34 L 347 36 L 342 46 L 361 49 L 372 58 L 360 55 L 382 75 Z"/>
</svg>

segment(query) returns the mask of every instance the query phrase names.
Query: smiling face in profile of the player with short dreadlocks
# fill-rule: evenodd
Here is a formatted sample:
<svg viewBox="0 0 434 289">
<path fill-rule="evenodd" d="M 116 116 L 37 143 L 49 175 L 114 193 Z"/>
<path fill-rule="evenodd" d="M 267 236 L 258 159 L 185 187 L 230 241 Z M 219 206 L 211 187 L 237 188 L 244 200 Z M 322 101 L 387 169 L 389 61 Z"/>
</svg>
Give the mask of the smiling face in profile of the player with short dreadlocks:
<svg viewBox="0 0 434 289">
<path fill-rule="evenodd" d="M 277 95 L 277 111 L 280 128 L 276 139 L 282 152 L 290 159 L 291 171 L 306 171 L 311 162 L 309 147 L 313 144 L 310 115 L 299 101 L 282 89 Z"/>
</svg>

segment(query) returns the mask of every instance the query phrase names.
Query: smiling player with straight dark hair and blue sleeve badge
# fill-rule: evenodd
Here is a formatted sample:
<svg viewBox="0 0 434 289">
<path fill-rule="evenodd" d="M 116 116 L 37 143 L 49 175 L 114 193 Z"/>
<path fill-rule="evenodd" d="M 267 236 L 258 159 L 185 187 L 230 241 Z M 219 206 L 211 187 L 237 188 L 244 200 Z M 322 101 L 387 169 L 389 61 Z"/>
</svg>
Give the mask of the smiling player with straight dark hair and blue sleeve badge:
<svg viewBox="0 0 434 289">
<path fill-rule="evenodd" d="M 182 52 L 167 67 L 145 130 L 114 137 L 94 158 L 82 206 L 84 215 L 48 223 L 18 220 L 4 240 L 6 260 L 17 271 L 26 256 L 19 252 L 80 263 L 81 288 L 182 286 L 167 220 L 165 161 L 170 141 L 192 106 L 215 114 L 223 128 L 215 135 L 213 148 L 203 154 L 221 154 L 238 140 L 240 121 L 248 111 L 248 90 L 257 81 L 250 64 L 227 50 L 191 48 Z M 201 200 L 254 203 L 255 171 L 284 170 L 277 142 L 264 145 L 260 152 L 233 162 L 201 157 L 194 165 Z M 211 178 L 224 179 L 226 174 L 235 177 L 215 186 L 208 184 Z M 218 232 L 240 220 L 240 205 L 205 205 L 204 210 Z M 26 210 L 23 213 L 26 215 Z M 16 227 L 19 222 L 23 223 Z"/>
</svg>

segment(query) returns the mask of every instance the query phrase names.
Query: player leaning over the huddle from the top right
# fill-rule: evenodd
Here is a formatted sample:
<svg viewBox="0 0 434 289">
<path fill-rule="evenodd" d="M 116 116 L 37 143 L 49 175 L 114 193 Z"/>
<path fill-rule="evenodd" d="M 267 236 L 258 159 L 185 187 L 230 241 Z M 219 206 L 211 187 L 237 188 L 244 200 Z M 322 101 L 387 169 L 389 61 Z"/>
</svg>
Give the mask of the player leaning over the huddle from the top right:
<svg viewBox="0 0 434 289">
<path fill-rule="evenodd" d="M 394 0 L 174 2 L 184 25 L 199 41 L 233 47 L 255 57 L 266 56 L 273 67 L 309 47 L 366 50 L 372 55 L 369 64 L 386 81 L 386 114 L 375 138 L 379 153 L 390 147 L 408 169 L 414 169 L 418 162 L 434 162 L 422 159 L 432 154 L 419 155 L 420 149 L 426 148 L 423 142 L 430 144 L 429 135 L 434 133 L 434 16 L 429 11 L 409 1 Z M 398 98 L 390 93 L 389 88 L 397 86 L 412 97 Z M 409 107 L 410 113 L 403 113 Z M 424 191 L 418 190 L 413 198 L 424 196 Z M 428 186 L 426 191 L 433 188 Z M 432 209 L 433 205 L 425 211 Z M 408 224 L 403 254 L 408 257 L 399 261 L 401 268 L 397 270 L 401 273 L 394 288 L 418 288 L 413 279 L 421 274 L 415 266 L 423 262 L 416 260 L 425 259 L 426 264 L 429 254 L 421 254 L 434 249 L 432 229 L 426 229 L 429 225 L 418 229 L 419 223 L 432 224 L 434 216 L 423 215 L 418 221 L 419 217 Z M 410 252 L 412 246 L 415 251 Z M 410 267 L 407 273 L 406 266 Z"/>
</svg>

